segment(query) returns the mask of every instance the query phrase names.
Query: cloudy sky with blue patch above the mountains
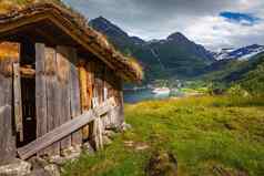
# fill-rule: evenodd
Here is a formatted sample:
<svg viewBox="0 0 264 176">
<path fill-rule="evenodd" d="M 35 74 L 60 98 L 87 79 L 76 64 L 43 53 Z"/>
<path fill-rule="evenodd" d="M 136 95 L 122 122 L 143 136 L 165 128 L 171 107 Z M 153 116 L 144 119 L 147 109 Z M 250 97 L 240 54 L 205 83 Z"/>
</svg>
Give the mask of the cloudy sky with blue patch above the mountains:
<svg viewBox="0 0 264 176">
<path fill-rule="evenodd" d="M 87 18 L 104 17 L 130 35 L 181 32 L 210 50 L 264 44 L 264 0 L 63 0 Z"/>
</svg>

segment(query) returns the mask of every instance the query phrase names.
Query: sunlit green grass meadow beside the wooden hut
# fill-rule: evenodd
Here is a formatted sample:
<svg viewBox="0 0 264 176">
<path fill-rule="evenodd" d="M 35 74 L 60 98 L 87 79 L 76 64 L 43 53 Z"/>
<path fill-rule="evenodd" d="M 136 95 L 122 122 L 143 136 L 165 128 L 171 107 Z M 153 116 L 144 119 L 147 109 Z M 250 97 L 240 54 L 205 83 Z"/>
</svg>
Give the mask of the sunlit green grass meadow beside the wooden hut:
<svg viewBox="0 0 264 176">
<path fill-rule="evenodd" d="M 68 164 L 65 176 L 141 176 L 154 151 L 177 157 L 179 175 L 217 176 L 214 167 L 236 175 L 264 175 L 263 97 L 187 97 L 125 105 L 133 128 L 116 135 L 94 156 Z M 124 142 L 148 144 L 136 151 Z"/>
</svg>

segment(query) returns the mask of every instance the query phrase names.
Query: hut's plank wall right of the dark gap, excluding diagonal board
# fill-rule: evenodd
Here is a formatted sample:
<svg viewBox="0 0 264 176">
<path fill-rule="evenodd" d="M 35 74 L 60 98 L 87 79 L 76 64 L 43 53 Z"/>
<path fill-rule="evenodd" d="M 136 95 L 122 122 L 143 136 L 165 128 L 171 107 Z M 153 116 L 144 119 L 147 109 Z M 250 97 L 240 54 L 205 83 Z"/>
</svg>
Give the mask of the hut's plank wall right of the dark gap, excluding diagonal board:
<svg viewBox="0 0 264 176">
<path fill-rule="evenodd" d="M 72 48 L 35 44 L 37 136 L 40 137 L 81 113 L 114 96 L 118 106 L 102 118 L 103 128 L 123 123 L 122 82 L 114 71 L 93 58 L 80 58 Z M 93 141 L 93 124 L 50 146 L 47 152 L 61 154 L 83 141 Z"/>
</svg>

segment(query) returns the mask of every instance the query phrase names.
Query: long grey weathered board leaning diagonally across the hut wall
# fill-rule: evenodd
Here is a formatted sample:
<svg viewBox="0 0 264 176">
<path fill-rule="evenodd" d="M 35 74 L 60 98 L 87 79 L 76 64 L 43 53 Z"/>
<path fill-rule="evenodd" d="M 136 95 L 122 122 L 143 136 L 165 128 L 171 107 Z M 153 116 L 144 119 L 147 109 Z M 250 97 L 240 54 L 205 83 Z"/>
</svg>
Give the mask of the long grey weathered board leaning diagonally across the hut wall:
<svg viewBox="0 0 264 176">
<path fill-rule="evenodd" d="M 108 113 L 111 108 L 113 108 L 113 106 L 115 106 L 114 99 L 109 99 L 101 106 L 83 113 L 82 115 L 71 120 L 70 122 L 67 122 L 60 127 L 49 132 L 48 134 L 38 138 L 37 141 L 28 144 L 27 146 L 19 148 L 18 154 L 20 158 L 22 159 L 29 158 L 39 151 L 80 130 L 85 124 L 94 121 L 98 116 Z"/>
</svg>

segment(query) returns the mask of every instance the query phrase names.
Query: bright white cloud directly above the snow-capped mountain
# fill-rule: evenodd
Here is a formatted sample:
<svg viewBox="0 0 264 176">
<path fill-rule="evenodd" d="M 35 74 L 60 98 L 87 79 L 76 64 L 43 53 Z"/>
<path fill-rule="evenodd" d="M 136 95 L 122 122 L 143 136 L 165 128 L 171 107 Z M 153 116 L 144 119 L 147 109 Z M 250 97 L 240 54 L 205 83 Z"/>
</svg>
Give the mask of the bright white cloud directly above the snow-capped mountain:
<svg viewBox="0 0 264 176">
<path fill-rule="evenodd" d="M 195 28 L 193 28 L 195 27 Z M 263 44 L 264 23 L 244 25 L 234 23 L 223 17 L 204 17 L 184 30 L 191 40 L 203 43 L 211 50 L 237 48 L 253 43 Z"/>
</svg>

